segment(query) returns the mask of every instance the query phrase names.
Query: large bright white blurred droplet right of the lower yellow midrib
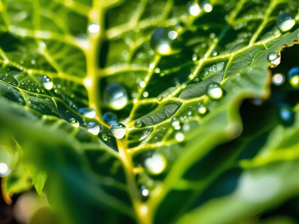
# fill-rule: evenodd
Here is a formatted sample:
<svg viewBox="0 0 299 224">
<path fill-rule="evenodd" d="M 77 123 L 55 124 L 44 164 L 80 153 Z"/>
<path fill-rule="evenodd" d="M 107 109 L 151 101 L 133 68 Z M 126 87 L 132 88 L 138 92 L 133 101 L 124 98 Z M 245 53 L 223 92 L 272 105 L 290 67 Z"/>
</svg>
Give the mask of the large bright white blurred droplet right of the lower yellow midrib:
<svg viewBox="0 0 299 224">
<path fill-rule="evenodd" d="M 164 155 L 160 153 L 154 153 L 151 157 L 145 159 L 144 166 L 149 173 L 157 175 L 161 174 L 167 165 L 167 160 Z"/>
</svg>

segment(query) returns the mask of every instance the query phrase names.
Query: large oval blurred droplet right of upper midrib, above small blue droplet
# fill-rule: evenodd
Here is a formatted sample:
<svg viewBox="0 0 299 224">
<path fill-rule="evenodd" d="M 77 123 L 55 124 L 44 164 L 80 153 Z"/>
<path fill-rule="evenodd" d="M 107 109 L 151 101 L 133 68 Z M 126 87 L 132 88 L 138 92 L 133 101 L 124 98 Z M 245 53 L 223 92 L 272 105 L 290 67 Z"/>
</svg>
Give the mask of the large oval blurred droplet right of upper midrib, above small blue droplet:
<svg viewBox="0 0 299 224">
<path fill-rule="evenodd" d="M 111 83 L 103 92 L 103 101 L 115 110 L 124 108 L 128 102 L 128 93 L 119 83 Z"/>
</svg>

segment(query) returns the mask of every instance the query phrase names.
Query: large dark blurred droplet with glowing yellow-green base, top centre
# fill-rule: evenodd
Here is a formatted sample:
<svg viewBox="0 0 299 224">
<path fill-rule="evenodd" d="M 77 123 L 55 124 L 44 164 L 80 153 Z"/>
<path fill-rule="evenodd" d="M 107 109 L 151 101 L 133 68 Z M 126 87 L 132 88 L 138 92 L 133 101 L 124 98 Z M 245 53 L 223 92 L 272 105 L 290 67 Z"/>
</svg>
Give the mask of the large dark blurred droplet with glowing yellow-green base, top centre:
<svg viewBox="0 0 299 224">
<path fill-rule="evenodd" d="M 168 28 L 159 27 L 152 34 L 150 45 L 160 55 L 171 55 L 179 52 L 174 41 L 178 33 Z"/>
</svg>

